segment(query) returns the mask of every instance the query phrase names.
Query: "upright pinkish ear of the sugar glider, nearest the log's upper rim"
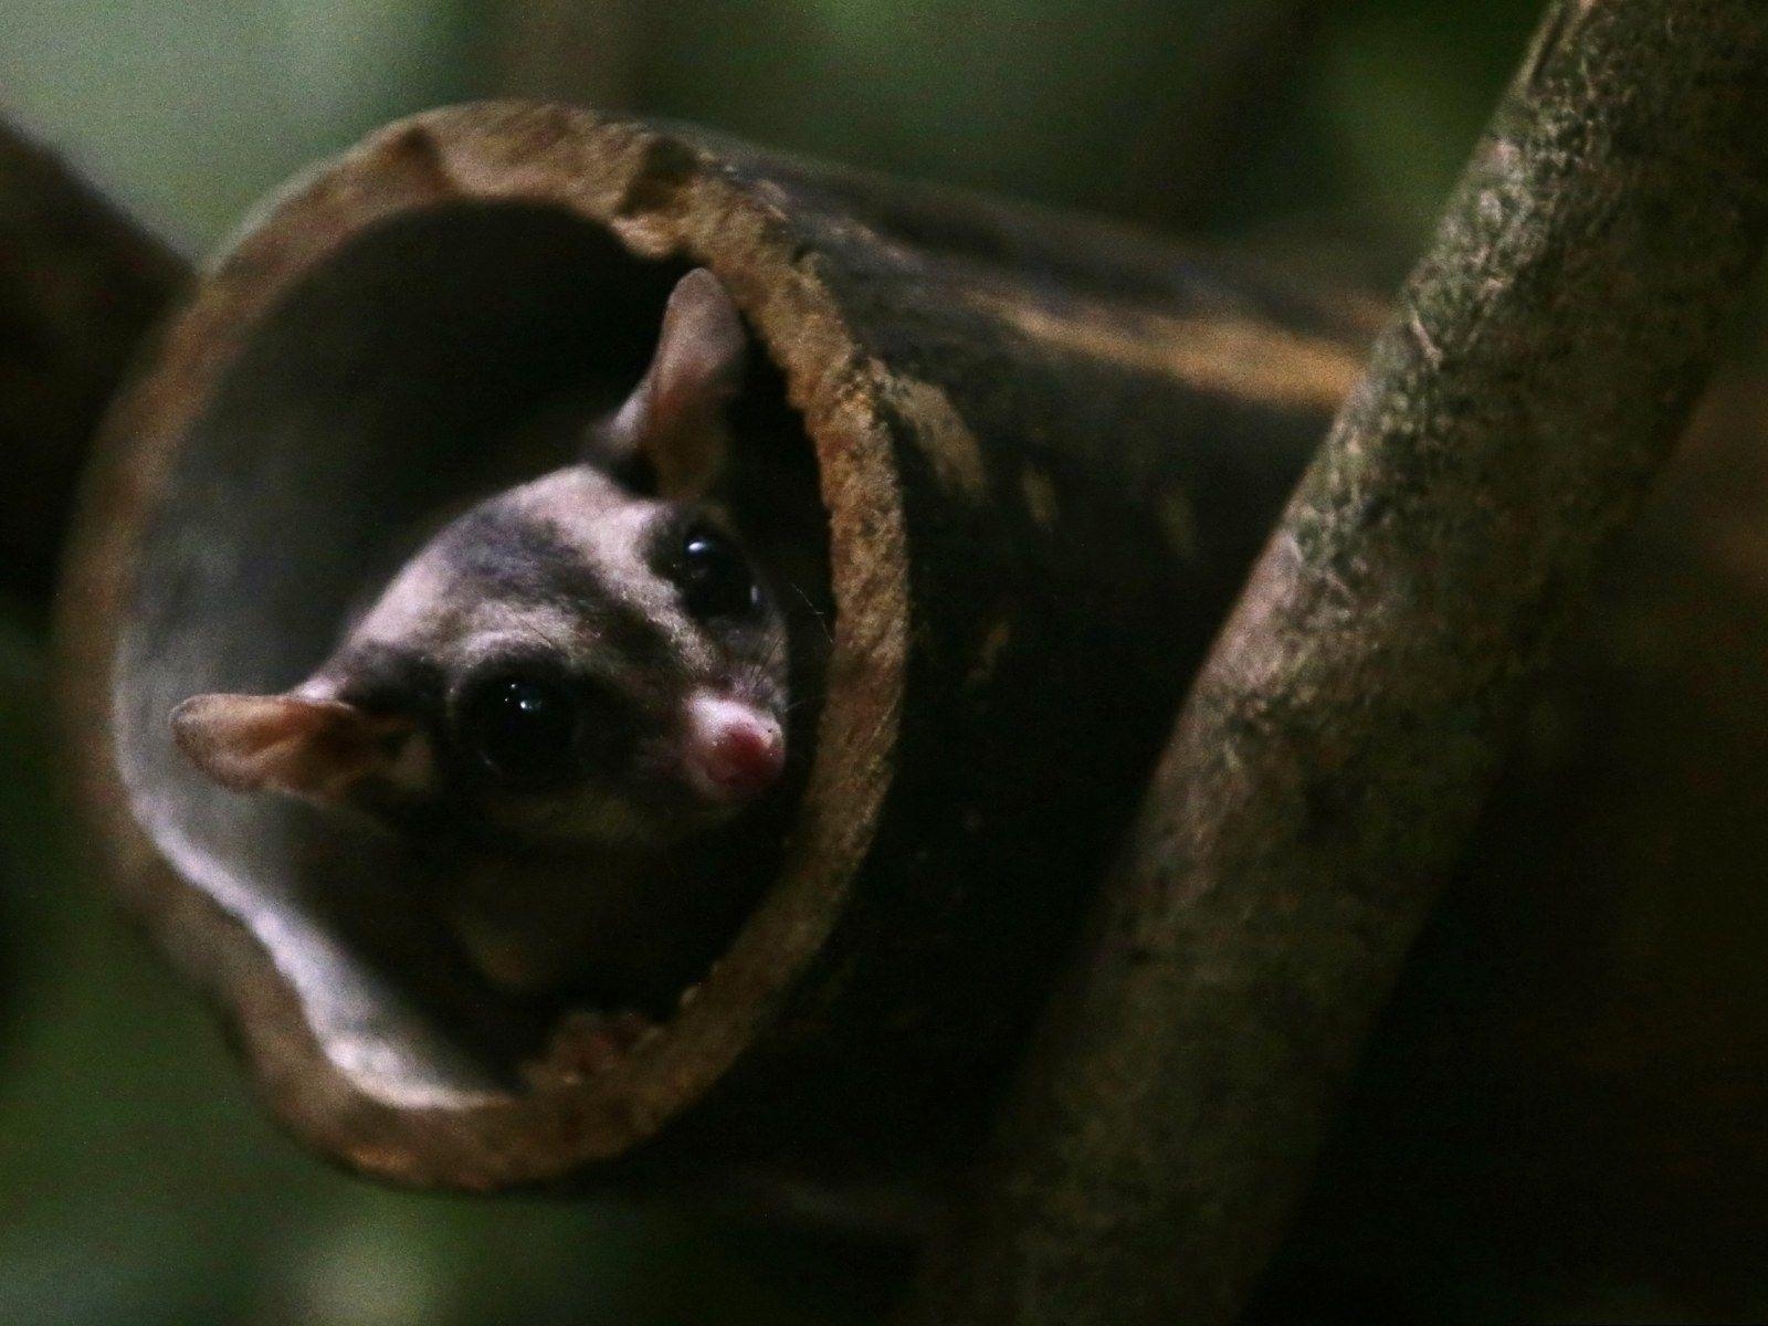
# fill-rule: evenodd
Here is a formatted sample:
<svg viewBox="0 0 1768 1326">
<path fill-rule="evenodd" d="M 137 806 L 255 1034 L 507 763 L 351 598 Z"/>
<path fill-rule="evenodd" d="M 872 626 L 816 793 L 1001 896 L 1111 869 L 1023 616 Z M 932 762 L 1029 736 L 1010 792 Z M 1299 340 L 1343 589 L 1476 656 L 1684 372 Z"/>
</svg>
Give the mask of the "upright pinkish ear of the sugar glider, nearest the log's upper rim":
<svg viewBox="0 0 1768 1326">
<path fill-rule="evenodd" d="M 603 447 L 644 460 L 658 492 L 704 497 L 725 467 L 723 408 L 743 387 L 748 332 L 725 283 L 695 267 L 670 292 L 651 368 L 606 426 Z"/>
</svg>

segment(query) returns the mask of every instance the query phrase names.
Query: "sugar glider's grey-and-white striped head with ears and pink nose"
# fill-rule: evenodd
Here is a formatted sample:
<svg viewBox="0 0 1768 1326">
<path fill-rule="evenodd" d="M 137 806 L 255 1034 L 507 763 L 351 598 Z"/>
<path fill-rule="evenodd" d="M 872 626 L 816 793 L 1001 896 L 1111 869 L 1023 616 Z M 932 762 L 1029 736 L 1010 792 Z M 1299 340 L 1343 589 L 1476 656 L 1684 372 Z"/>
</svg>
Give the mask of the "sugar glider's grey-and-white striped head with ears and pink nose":
<svg viewBox="0 0 1768 1326">
<path fill-rule="evenodd" d="M 179 746 L 226 787 L 513 845 L 730 819 L 778 780 L 787 711 L 783 615 L 709 500 L 744 348 L 690 272 L 596 463 L 444 527 L 292 691 L 179 705 Z M 635 467 L 654 483 L 615 477 Z"/>
</svg>

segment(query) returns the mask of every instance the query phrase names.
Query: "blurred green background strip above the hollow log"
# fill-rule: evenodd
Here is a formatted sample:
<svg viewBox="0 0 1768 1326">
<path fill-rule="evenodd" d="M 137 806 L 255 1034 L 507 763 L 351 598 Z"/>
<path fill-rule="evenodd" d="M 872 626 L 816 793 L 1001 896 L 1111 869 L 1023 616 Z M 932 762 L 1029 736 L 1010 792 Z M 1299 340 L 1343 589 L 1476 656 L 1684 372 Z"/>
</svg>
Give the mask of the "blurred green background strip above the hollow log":
<svg viewBox="0 0 1768 1326">
<path fill-rule="evenodd" d="M 1165 198 L 1199 92 L 1317 14 L 1245 152 Z M 826 157 L 1238 230 L 1345 219 L 1411 249 L 1538 0 L 5 0 L 0 104 L 149 219 L 214 244 L 302 163 L 405 111 L 589 94 Z"/>
</svg>

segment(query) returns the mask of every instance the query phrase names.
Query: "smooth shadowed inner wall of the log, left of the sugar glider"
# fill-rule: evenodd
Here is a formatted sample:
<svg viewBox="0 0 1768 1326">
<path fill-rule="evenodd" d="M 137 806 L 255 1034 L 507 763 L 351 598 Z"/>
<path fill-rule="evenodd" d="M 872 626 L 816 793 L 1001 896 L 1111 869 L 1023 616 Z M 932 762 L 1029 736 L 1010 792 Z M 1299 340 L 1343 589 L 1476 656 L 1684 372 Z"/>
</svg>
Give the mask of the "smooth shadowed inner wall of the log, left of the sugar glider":
<svg viewBox="0 0 1768 1326">
<path fill-rule="evenodd" d="M 276 955 L 334 1063 L 389 1103 L 507 1082 L 539 1029 L 465 997 L 396 843 L 216 787 L 166 714 L 297 682 L 438 513 L 566 463 L 562 430 L 522 424 L 615 405 L 681 271 L 559 209 L 401 216 L 246 338 L 166 477 L 118 656 L 124 778 L 161 850 Z"/>
</svg>

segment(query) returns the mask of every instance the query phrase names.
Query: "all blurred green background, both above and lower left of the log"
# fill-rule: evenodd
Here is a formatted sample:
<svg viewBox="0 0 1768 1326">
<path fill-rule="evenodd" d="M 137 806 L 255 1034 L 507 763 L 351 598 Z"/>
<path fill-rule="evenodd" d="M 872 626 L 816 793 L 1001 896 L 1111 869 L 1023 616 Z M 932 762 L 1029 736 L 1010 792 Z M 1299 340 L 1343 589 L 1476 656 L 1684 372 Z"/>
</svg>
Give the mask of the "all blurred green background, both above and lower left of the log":
<svg viewBox="0 0 1768 1326">
<path fill-rule="evenodd" d="M 1151 225 L 1423 242 L 1536 0 L 1317 5 L 1183 191 L 1231 0 L 0 0 L 0 106 L 191 253 L 410 110 L 583 94 Z M 1241 133 L 1243 129 L 1243 133 Z M 1179 171 L 1179 179 L 1185 173 Z M 1181 196 L 1183 194 L 1183 196 Z M 412 1197 L 260 1117 L 71 861 L 34 626 L 0 621 L 0 1322 L 840 1322 L 889 1259 L 709 1215 Z M 1492 1308 L 1492 1301 L 1485 1301 Z M 1497 1315 L 1505 1315 L 1497 1312 Z"/>
</svg>

